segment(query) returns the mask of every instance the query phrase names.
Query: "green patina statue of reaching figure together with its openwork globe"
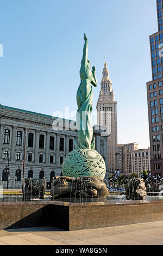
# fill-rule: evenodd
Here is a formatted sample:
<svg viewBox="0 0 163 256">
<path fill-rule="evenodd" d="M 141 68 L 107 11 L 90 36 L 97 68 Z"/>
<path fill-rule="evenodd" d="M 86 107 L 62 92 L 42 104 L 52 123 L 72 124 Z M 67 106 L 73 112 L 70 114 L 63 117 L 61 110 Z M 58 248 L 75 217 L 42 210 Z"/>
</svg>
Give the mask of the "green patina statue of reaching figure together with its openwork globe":
<svg viewBox="0 0 163 256">
<path fill-rule="evenodd" d="M 88 43 L 84 34 L 83 58 L 80 68 L 80 85 L 77 91 L 77 131 L 78 143 L 74 141 L 75 148 L 65 158 L 62 164 L 62 174 L 69 177 L 105 176 L 105 162 L 103 157 L 95 150 L 95 137 L 93 138 L 92 127 L 92 86 L 97 86 L 95 66 L 90 68 L 90 61 L 87 59 Z"/>
</svg>

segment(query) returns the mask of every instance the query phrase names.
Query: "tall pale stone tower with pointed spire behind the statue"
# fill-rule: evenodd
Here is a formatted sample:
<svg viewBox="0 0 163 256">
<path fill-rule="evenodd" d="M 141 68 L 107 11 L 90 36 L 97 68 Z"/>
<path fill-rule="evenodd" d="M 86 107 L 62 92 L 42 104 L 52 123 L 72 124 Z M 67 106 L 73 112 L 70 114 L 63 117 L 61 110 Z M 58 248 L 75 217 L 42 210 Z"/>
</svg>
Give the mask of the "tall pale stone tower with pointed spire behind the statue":
<svg viewBox="0 0 163 256">
<path fill-rule="evenodd" d="M 108 66 L 105 62 L 101 90 L 97 102 L 97 124 L 105 126 L 110 134 L 108 137 L 108 168 L 116 166 L 117 153 L 117 101 L 115 101 Z"/>
</svg>

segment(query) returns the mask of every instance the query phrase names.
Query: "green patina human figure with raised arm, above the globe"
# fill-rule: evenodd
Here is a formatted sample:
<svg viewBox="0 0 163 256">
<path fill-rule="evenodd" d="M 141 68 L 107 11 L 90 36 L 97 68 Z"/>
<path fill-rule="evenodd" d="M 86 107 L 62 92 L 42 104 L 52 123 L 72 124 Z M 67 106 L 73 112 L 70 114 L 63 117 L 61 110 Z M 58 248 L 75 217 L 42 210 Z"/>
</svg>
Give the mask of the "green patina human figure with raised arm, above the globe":
<svg viewBox="0 0 163 256">
<path fill-rule="evenodd" d="M 87 148 L 95 149 L 95 138 L 92 142 L 93 137 L 93 127 L 91 120 L 92 112 L 92 101 L 93 92 L 90 83 L 93 86 L 97 86 L 97 80 L 95 76 L 95 66 L 93 66 L 92 71 L 90 68 L 90 61 L 87 59 L 88 44 L 87 38 L 84 34 L 84 49 L 83 49 L 83 59 L 80 68 L 80 85 L 77 92 L 77 127 L 78 127 L 78 145 L 75 143 L 76 149 Z M 92 144 L 91 144 L 92 142 Z"/>
</svg>

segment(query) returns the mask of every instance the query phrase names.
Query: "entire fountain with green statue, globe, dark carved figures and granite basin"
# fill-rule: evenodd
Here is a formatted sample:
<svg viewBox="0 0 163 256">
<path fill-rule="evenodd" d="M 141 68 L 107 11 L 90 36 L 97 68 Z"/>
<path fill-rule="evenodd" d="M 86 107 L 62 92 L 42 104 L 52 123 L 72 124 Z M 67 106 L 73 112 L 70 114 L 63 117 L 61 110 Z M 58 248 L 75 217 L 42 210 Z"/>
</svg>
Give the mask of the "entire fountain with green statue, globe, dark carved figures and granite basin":
<svg viewBox="0 0 163 256">
<path fill-rule="evenodd" d="M 159 199 L 162 181 L 155 180 L 152 184 L 150 180 L 120 180 L 115 176 L 104 179 L 105 162 L 95 150 L 91 123 L 93 92 L 90 84 L 97 86 L 96 70 L 94 66 L 91 70 L 87 59 L 85 34 L 84 41 L 77 91 L 78 142 L 74 141 L 75 149 L 65 157 L 62 175 L 52 179 L 48 196 L 45 179 L 22 180 L 23 196 L 6 196 L 4 189 L 11 188 L 11 181 L 1 179 L 0 229 L 49 225 L 79 230 L 163 220 L 160 215 L 163 200 Z M 17 182 L 16 179 L 13 182 L 14 189 L 18 187 Z M 153 200 L 151 193 L 158 193 L 158 197 L 154 194 Z"/>
</svg>

